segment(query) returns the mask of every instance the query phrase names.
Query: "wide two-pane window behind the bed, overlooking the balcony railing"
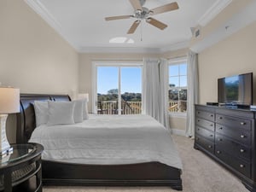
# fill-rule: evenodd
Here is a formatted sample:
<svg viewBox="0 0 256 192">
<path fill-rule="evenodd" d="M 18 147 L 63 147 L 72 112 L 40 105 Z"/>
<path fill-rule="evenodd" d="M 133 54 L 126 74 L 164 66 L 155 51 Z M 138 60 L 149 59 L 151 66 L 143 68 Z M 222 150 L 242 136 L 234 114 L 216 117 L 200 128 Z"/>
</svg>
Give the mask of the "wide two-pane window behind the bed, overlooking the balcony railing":
<svg viewBox="0 0 256 192">
<path fill-rule="evenodd" d="M 142 113 L 142 64 L 95 63 L 95 113 Z"/>
</svg>

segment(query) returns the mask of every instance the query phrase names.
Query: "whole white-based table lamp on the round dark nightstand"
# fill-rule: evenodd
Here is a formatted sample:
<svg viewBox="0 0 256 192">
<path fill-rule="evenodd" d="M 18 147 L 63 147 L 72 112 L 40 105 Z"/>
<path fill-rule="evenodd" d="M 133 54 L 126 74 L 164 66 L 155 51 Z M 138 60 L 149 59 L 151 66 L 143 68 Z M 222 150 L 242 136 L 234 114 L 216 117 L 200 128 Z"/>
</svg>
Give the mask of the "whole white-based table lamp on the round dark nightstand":
<svg viewBox="0 0 256 192">
<path fill-rule="evenodd" d="M 0 86 L 0 158 L 12 152 L 6 137 L 6 119 L 9 113 L 20 112 L 20 90 Z"/>
</svg>

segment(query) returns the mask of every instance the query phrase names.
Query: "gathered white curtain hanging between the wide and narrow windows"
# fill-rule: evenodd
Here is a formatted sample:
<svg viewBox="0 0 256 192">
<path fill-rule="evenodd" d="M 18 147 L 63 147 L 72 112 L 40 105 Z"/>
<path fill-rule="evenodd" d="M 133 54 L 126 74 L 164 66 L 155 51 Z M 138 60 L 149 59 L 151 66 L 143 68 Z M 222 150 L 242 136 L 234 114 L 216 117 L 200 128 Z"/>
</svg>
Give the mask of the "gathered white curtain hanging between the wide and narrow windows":
<svg viewBox="0 0 256 192">
<path fill-rule="evenodd" d="M 143 113 L 169 128 L 168 63 L 165 59 L 147 58 L 143 62 Z"/>
</svg>

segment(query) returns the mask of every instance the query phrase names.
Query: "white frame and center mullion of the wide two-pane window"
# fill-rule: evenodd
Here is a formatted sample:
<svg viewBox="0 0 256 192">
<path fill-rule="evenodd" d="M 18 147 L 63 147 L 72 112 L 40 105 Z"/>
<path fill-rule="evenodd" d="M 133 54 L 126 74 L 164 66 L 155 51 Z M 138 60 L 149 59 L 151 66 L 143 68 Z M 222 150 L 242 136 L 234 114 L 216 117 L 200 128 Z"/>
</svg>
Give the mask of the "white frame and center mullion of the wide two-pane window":
<svg viewBox="0 0 256 192">
<path fill-rule="evenodd" d="M 121 67 L 142 67 L 142 88 L 143 88 L 143 61 L 92 61 L 92 80 L 91 80 L 91 91 L 92 91 L 92 113 L 97 113 L 97 99 L 96 99 L 96 90 L 97 90 L 97 67 L 119 67 L 119 74 Z M 119 76 L 120 82 L 120 76 Z M 120 86 L 120 84 L 119 84 Z M 120 87 L 119 89 L 119 106 L 121 106 L 120 100 Z M 143 99 L 143 91 L 142 91 L 142 99 Z M 143 101 L 142 101 L 143 102 Z"/>
</svg>

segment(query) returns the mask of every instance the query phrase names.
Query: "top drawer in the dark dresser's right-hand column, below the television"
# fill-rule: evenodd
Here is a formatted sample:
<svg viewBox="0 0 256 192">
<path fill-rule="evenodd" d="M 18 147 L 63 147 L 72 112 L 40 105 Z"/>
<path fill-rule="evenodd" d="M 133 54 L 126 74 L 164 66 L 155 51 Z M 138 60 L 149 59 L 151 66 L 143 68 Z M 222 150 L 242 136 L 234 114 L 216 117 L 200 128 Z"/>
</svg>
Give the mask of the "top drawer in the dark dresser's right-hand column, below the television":
<svg viewBox="0 0 256 192">
<path fill-rule="evenodd" d="M 251 131 L 252 122 L 249 119 L 241 119 L 236 117 L 216 114 L 216 123 L 221 125 L 229 125 L 232 128 L 241 128 Z"/>
</svg>

